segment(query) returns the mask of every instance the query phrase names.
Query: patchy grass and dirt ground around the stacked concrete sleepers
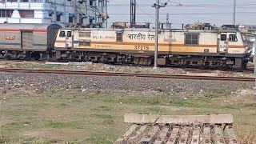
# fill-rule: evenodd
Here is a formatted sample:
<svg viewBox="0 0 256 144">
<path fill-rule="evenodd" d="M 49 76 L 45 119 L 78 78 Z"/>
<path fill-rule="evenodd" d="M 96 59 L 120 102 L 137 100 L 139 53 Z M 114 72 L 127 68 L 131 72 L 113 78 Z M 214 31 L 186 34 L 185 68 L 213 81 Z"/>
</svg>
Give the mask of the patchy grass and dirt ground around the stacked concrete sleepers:
<svg viewBox="0 0 256 144">
<path fill-rule="evenodd" d="M 236 134 L 256 142 L 256 91 L 209 90 L 192 98 L 102 90 L 0 91 L 0 143 L 112 143 L 124 114 L 234 114 Z M 244 142 L 246 143 L 246 142 Z"/>
</svg>

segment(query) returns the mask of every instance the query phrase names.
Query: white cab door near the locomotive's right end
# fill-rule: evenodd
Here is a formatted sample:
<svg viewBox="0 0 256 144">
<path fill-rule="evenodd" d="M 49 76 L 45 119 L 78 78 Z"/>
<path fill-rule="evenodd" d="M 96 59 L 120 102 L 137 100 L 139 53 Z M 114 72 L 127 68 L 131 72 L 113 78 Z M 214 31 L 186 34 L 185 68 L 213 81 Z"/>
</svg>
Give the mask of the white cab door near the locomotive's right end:
<svg viewBox="0 0 256 144">
<path fill-rule="evenodd" d="M 218 53 L 226 54 L 228 46 L 227 33 L 218 34 Z"/>
</svg>

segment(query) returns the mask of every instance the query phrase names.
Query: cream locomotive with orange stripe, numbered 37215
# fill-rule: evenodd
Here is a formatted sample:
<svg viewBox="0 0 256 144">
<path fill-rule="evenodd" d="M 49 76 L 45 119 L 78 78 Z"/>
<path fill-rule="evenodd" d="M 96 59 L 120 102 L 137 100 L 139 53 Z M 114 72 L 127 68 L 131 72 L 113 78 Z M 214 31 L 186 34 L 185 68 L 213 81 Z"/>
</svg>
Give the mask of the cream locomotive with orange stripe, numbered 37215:
<svg viewBox="0 0 256 144">
<path fill-rule="evenodd" d="M 55 52 L 58 59 L 92 62 L 154 63 L 154 29 L 62 28 Z M 246 68 L 252 47 L 235 28 L 159 30 L 161 65 Z"/>
</svg>

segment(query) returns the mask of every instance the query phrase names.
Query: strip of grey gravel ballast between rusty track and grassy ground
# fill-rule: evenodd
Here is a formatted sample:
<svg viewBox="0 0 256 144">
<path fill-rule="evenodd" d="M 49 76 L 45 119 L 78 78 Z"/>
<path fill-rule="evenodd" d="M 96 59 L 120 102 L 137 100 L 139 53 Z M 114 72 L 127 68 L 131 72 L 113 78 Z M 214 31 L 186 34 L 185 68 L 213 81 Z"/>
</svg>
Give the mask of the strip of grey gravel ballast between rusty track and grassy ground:
<svg viewBox="0 0 256 144">
<path fill-rule="evenodd" d="M 86 76 L 70 74 L 24 74 L 0 73 L 1 89 L 31 87 L 46 90 L 82 89 L 82 90 L 131 90 L 136 92 L 161 91 L 198 94 L 206 90 L 227 89 L 242 90 L 254 87 L 254 82 L 225 82 L 189 79 L 136 78 Z"/>
</svg>

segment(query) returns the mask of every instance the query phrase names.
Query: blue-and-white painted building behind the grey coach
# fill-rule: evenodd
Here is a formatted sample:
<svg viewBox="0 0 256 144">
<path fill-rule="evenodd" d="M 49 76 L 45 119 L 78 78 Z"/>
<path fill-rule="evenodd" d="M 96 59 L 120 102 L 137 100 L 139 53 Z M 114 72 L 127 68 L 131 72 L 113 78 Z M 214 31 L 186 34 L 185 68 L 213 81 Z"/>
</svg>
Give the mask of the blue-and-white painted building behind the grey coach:
<svg viewBox="0 0 256 144">
<path fill-rule="evenodd" d="M 0 0 L 0 23 L 77 22 L 76 11 L 68 0 Z"/>
</svg>

